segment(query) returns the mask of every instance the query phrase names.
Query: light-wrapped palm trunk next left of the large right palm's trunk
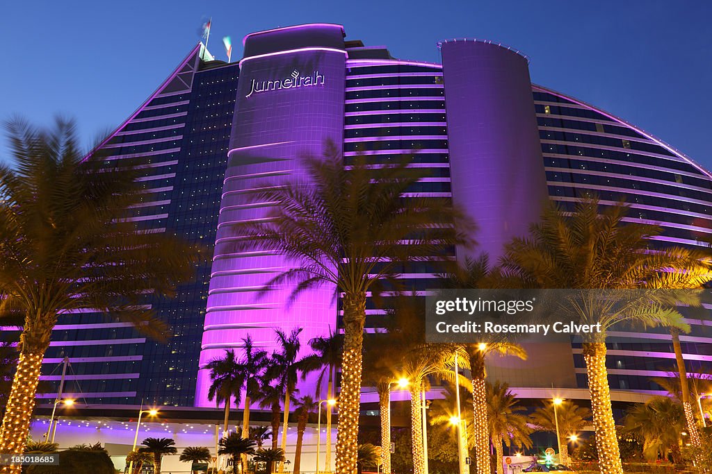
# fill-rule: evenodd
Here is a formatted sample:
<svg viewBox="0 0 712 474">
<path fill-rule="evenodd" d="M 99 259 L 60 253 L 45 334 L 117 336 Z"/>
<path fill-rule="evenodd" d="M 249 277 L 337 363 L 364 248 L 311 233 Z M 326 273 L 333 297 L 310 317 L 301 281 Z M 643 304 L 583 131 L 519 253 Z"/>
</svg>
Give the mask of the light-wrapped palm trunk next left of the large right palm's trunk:
<svg viewBox="0 0 712 474">
<path fill-rule="evenodd" d="M 477 474 L 490 474 L 485 358 L 481 352 L 471 355 L 470 367 L 472 373 L 472 410 L 475 421 L 472 427 L 475 438 L 475 472 Z"/>
</svg>

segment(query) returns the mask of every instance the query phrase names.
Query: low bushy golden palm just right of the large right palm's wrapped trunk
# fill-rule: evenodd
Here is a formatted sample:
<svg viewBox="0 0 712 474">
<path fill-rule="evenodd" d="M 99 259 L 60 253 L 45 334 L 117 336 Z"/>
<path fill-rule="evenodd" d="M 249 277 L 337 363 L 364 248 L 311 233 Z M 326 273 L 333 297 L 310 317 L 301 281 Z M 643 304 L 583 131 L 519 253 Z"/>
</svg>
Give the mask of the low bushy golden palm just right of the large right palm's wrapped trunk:
<svg viewBox="0 0 712 474">
<path fill-rule="evenodd" d="M 679 440 L 685 429 L 681 404 L 670 397 L 653 397 L 645 404 L 635 404 L 623 419 L 623 432 L 643 441 L 643 455 L 648 460 L 670 456 L 681 462 Z"/>
</svg>

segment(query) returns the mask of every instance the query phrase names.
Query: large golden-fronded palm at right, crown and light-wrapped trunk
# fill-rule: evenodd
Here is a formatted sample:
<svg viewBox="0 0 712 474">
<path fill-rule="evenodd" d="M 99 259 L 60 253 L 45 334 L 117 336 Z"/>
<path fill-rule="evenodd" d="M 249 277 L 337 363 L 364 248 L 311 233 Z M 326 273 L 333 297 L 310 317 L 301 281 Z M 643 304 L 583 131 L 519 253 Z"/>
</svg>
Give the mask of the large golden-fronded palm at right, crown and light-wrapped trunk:
<svg viewBox="0 0 712 474">
<path fill-rule="evenodd" d="M 614 205 L 599 212 L 598 201 L 588 199 L 567 215 L 552 205 L 530 228 L 529 237 L 508 244 L 501 264 L 504 276 L 520 279 L 525 287 L 580 289 L 580 296 L 562 302 L 560 314 L 584 324 L 600 323 L 601 332 L 586 338 L 582 352 L 600 468 L 610 474 L 623 470 L 605 364 L 607 330 L 621 321 L 689 329 L 657 293 L 627 291 L 664 288 L 651 281 L 685 271 L 689 260 L 677 249 L 648 252 L 647 238 L 658 234 L 659 227 L 624 224 L 626 210 Z M 588 289 L 606 289 L 606 298 Z"/>
</svg>

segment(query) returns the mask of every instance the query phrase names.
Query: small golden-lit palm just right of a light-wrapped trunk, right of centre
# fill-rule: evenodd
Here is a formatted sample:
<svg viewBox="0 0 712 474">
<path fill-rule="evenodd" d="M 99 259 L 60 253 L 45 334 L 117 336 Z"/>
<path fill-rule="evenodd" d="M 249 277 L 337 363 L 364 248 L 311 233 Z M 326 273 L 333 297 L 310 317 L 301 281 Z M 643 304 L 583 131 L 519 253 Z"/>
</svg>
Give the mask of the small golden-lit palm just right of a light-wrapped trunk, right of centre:
<svg viewBox="0 0 712 474">
<path fill-rule="evenodd" d="M 525 448 L 533 446 L 529 438 L 532 430 L 527 426 L 527 416 L 521 413 L 526 408 L 517 404 L 515 394 L 509 391 L 508 384 L 499 381 L 487 384 L 487 420 L 497 453 L 497 474 L 504 474 L 503 442 L 508 448 L 512 445 Z"/>
</svg>

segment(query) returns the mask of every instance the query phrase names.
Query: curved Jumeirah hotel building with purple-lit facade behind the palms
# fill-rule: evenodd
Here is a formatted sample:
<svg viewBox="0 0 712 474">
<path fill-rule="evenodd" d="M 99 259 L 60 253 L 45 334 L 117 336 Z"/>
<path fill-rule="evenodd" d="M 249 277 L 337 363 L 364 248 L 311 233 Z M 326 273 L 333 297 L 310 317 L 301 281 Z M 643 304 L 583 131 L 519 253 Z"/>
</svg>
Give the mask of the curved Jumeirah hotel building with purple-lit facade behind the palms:
<svg viewBox="0 0 712 474">
<path fill-rule="evenodd" d="M 701 166 L 612 114 L 533 85 L 527 59 L 511 48 L 462 39 L 438 47 L 442 64 L 398 60 L 384 47 L 346 40 L 342 26 L 319 23 L 246 36 L 239 63 L 192 50 L 102 148 L 108 160 L 145 170 L 145 202 L 131 215 L 142 229 L 214 244 L 214 258 L 176 300 L 147 301 L 175 328 L 168 345 L 98 314 L 67 315 L 53 333 L 45 378 L 56 383 L 56 365 L 68 356 L 76 372 L 69 392 L 80 388 L 92 404 L 145 398 L 214 407 L 199 367 L 239 349 L 246 335 L 271 352 L 275 328 L 304 328 L 303 346 L 337 329 L 333 288 L 303 293 L 289 305 L 288 287 L 259 295 L 293 262 L 239 252 L 231 225 L 264 217 L 273 203 L 253 203 L 246 192 L 302 178 L 299 157 L 320 155 L 328 140 L 345 165 L 360 153 L 372 166 L 412 155 L 411 166 L 425 177 L 411 194 L 451 198 L 468 210 L 479 226 L 475 253 L 498 255 L 503 242 L 526 232 L 547 198 L 567 208 L 592 191 L 602 205 L 626 200 L 630 221 L 660 225 L 653 247 L 695 247 L 712 235 L 712 176 Z M 466 256 L 451 249 L 445 257 Z M 425 295 L 438 285 L 433 271 L 409 264 L 400 278 Z M 379 328 L 383 315 L 367 306 L 367 331 Z M 712 333 L 689 322 L 693 332 L 681 340 L 691 372 L 698 372 L 696 363 L 710 362 Z M 639 344 L 609 347 L 614 400 L 656 393 L 649 377 L 674 365 L 664 333 L 626 335 Z M 521 397 L 548 397 L 552 382 L 572 391 L 566 397 L 587 397 L 580 348 L 549 349 L 546 357 L 530 354 L 489 370 Z"/>
</svg>

